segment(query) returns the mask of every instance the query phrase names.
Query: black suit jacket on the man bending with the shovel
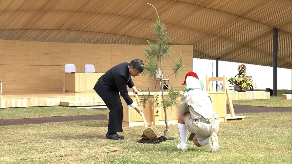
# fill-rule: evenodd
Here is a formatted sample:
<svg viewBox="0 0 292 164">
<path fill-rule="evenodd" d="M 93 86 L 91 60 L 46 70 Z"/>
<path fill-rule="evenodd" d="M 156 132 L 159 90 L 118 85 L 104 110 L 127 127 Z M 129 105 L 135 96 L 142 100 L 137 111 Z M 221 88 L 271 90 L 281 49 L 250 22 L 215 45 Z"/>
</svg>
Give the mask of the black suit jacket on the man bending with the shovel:
<svg viewBox="0 0 292 164">
<path fill-rule="evenodd" d="M 134 86 L 134 83 L 130 78 L 129 63 L 125 62 L 112 67 L 100 78 L 102 78 L 102 82 L 107 90 L 120 92 L 128 105 L 133 103 L 127 90 L 127 86 L 129 88 Z M 129 78 L 130 80 L 128 81 Z"/>
</svg>

